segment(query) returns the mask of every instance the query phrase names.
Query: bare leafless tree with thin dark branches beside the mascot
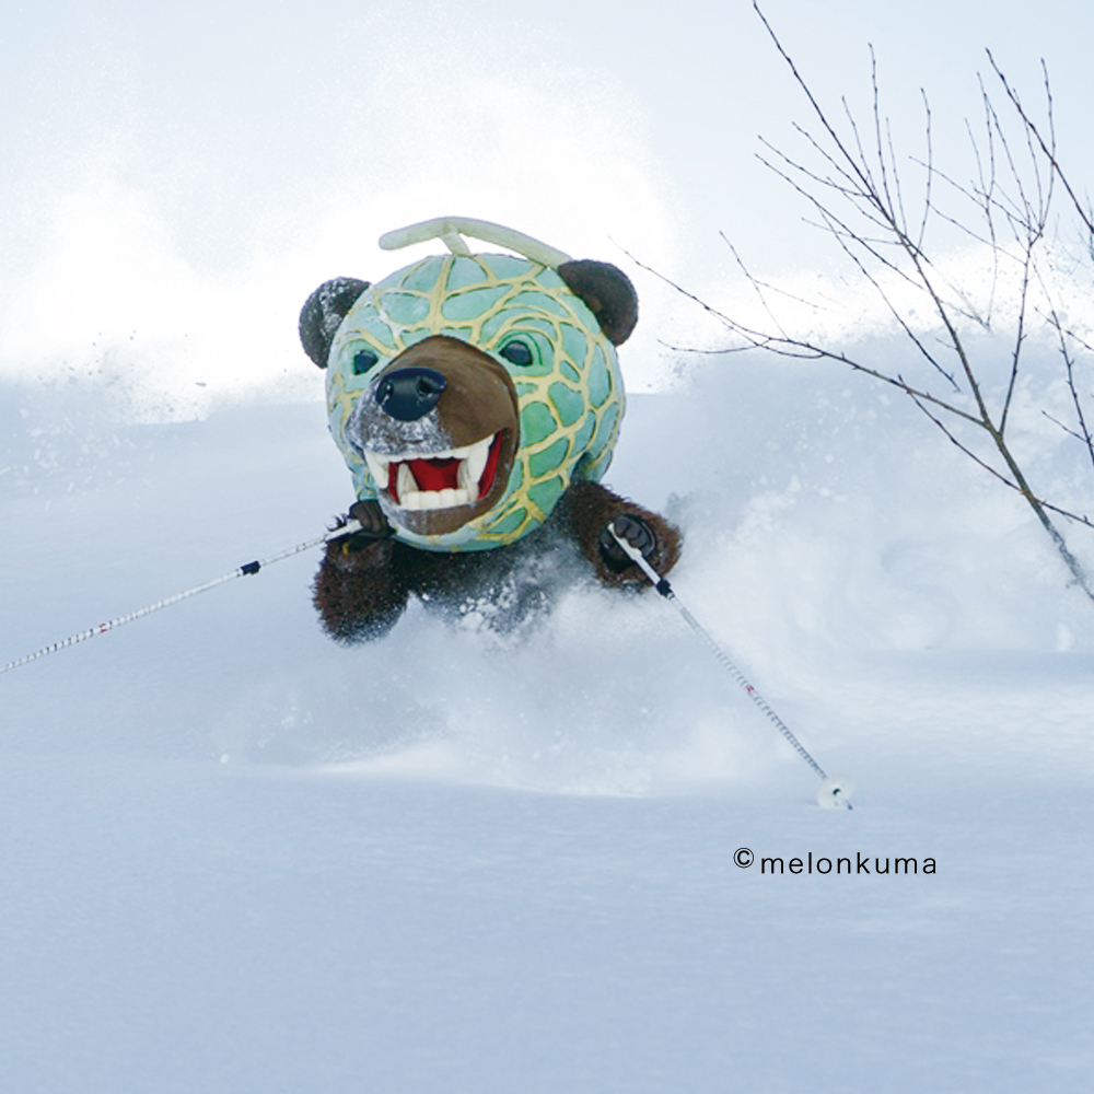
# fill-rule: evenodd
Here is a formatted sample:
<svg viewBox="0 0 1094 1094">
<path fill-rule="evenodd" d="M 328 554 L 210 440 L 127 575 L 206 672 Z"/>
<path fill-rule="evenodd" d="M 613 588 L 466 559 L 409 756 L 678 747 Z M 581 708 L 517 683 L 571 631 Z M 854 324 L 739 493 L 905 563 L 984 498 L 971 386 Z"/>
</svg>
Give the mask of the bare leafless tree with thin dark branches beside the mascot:
<svg viewBox="0 0 1094 1094">
<path fill-rule="evenodd" d="M 1094 523 L 1086 515 L 1035 491 L 1008 437 L 1024 374 L 1031 324 L 1039 315 L 1057 339 L 1074 423 L 1062 422 L 1048 411 L 1041 412 L 1066 435 L 1084 445 L 1094 472 L 1094 435 L 1089 427 L 1092 416 L 1084 405 L 1076 379 L 1075 357 L 1076 349 L 1091 354 L 1094 354 L 1094 349 L 1066 322 L 1056 303 L 1049 277 L 1052 267 L 1047 236 L 1049 224 L 1054 223 L 1057 185 L 1062 187 L 1079 218 L 1085 233 L 1086 260 L 1092 266 L 1094 217 L 1080 202 L 1057 158 L 1047 69 L 1043 63 L 1047 120 L 1039 126 L 988 53 L 988 61 L 1003 89 L 1010 110 L 1006 117 L 1000 115 L 980 80 L 982 116 L 979 137 L 966 121 L 975 164 L 968 183 L 958 182 L 952 173 L 942 171 L 935 163 L 931 108 L 926 92 L 921 90 L 926 153 L 922 158 L 908 160 L 917 170 L 923 171 L 918 196 L 920 207 L 912 217 L 909 214 L 910 194 L 904 185 L 892 126 L 882 108 L 873 49 L 870 50 L 869 128 L 860 128 L 846 98 L 840 100 L 842 119 L 837 119 L 837 124 L 783 47 L 758 0 L 753 0 L 753 7 L 775 49 L 804 94 L 813 120 L 812 126 L 794 126 L 795 133 L 804 143 L 804 159 L 763 141 L 765 151 L 759 156 L 760 162 L 807 202 L 813 211 L 814 226 L 831 236 L 862 283 L 881 301 L 915 348 L 921 366 L 930 370 L 928 379 L 926 382 L 905 379 L 903 374 L 893 374 L 862 359 L 849 348 L 795 333 L 779 317 L 775 306 L 777 300 L 792 301 L 814 311 L 822 310 L 822 305 L 761 281 L 746 267 L 728 240 L 734 261 L 766 316 L 759 327 L 755 322 L 746 323 L 712 307 L 643 263 L 638 265 L 698 303 L 731 334 L 734 341 L 730 346 L 710 352 L 763 349 L 783 358 L 834 361 L 907 395 L 958 451 L 1022 496 L 1068 567 L 1073 582 L 1094 601 L 1094 589 L 1052 516 L 1086 528 L 1094 528 Z M 816 165 L 810 165 L 810 159 Z M 951 208 L 955 203 L 956 208 Z M 980 244 L 990 256 L 986 311 L 961 283 L 959 275 L 946 274 L 945 264 L 940 267 L 932 258 L 928 237 L 933 223 L 956 230 L 965 238 Z M 910 226 L 912 224 L 913 228 Z M 967 324 L 984 330 L 994 329 L 999 294 L 1004 283 L 1014 286 L 1015 314 L 1009 327 L 1006 369 L 1000 376 L 990 359 L 974 357 L 964 331 Z M 908 289 L 913 291 L 931 317 L 926 328 L 916 312 L 917 305 L 909 305 L 900 299 L 900 293 Z M 941 394 L 935 389 L 940 381 L 945 382 Z"/>
</svg>

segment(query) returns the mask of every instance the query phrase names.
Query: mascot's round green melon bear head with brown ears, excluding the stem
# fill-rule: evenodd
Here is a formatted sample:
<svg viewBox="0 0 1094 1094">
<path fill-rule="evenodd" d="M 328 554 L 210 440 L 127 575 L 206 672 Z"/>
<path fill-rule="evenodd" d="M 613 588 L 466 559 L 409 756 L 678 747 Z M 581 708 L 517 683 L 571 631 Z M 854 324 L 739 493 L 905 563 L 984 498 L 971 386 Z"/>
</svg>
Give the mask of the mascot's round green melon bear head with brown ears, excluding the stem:
<svg viewBox="0 0 1094 1094">
<path fill-rule="evenodd" d="M 625 408 L 616 345 L 636 318 L 614 266 L 453 254 L 373 286 L 327 282 L 301 334 L 314 360 L 326 351 L 330 431 L 358 498 L 405 543 L 481 550 L 607 469 Z"/>
</svg>

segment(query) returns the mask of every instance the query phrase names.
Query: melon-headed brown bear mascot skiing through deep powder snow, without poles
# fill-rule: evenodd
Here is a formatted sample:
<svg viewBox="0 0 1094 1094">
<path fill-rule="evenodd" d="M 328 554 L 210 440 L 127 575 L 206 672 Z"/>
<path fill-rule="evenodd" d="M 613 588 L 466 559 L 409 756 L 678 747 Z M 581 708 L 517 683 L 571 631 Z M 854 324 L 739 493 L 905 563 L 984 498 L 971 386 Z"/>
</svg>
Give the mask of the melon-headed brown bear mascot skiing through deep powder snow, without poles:
<svg viewBox="0 0 1094 1094">
<path fill-rule="evenodd" d="M 473 254 L 465 235 L 515 254 Z M 616 347 L 638 319 L 626 275 L 466 218 L 380 243 L 433 238 L 449 253 L 374 284 L 326 281 L 300 316 L 357 492 L 360 528 L 327 544 L 315 579 L 344 642 L 385 635 L 411 596 L 519 620 L 549 601 L 567 554 L 642 587 L 610 528 L 661 573 L 679 555 L 673 525 L 600 481 L 625 408 Z"/>
</svg>

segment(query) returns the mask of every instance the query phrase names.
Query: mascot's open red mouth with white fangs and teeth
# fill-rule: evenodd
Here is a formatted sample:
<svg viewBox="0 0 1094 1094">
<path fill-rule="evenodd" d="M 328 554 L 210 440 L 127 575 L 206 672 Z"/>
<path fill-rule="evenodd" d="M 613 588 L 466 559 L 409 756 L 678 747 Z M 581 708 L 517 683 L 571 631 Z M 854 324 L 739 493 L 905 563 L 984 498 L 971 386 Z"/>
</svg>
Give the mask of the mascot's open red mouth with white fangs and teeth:
<svg viewBox="0 0 1094 1094">
<path fill-rule="evenodd" d="M 474 505 L 494 482 L 503 431 L 462 449 L 382 456 L 365 450 L 376 486 L 400 509 L 432 510 Z"/>
</svg>

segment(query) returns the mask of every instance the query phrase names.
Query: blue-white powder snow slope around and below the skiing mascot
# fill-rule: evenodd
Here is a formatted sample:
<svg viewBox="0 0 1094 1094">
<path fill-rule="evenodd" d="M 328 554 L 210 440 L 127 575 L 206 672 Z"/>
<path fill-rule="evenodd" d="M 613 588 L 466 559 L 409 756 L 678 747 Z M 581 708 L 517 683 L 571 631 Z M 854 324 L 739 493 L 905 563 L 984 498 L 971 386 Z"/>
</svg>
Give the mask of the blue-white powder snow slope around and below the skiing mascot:
<svg viewBox="0 0 1094 1094">
<path fill-rule="evenodd" d="M 351 500 L 317 401 L 107 394 L 0 389 L 0 663 Z M 853 812 L 653 596 L 342 649 L 311 552 L 0 676 L 0 1089 L 1089 1091 L 1094 609 L 882 394 L 714 361 L 609 474 Z"/>
</svg>

